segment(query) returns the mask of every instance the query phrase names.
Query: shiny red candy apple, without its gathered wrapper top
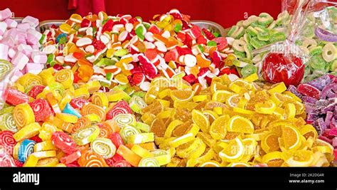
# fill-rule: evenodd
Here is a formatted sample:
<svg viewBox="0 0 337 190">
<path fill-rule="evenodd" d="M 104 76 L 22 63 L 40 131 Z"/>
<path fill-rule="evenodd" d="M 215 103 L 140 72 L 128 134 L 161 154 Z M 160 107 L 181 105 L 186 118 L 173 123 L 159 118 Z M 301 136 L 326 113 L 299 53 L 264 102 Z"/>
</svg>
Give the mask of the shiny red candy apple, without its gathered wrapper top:
<svg viewBox="0 0 337 190">
<path fill-rule="evenodd" d="M 304 76 L 305 65 L 299 56 L 283 53 L 269 53 L 264 58 L 262 75 L 270 83 L 282 83 L 297 86 Z"/>
</svg>

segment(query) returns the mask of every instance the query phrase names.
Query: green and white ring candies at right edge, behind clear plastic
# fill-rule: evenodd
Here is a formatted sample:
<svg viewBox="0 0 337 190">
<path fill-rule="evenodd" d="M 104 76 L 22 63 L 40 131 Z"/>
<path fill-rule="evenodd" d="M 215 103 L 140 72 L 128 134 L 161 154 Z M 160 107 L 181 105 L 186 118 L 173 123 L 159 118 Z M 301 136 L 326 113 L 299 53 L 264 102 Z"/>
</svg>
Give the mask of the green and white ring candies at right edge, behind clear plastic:
<svg viewBox="0 0 337 190">
<path fill-rule="evenodd" d="M 311 56 L 311 60 L 306 65 L 304 78 L 306 82 L 325 73 L 337 75 L 337 50 L 336 43 L 334 43 L 337 38 L 336 35 L 325 32 L 336 33 L 336 13 L 337 8 L 333 6 L 323 9 L 319 15 L 324 14 L 322 17 L 324 23 L 322 19 L 315 18 L 314 13 L 311 13 L 303 32 L 304 38 L 296 41 L 296 44 Z"/>
</svg>

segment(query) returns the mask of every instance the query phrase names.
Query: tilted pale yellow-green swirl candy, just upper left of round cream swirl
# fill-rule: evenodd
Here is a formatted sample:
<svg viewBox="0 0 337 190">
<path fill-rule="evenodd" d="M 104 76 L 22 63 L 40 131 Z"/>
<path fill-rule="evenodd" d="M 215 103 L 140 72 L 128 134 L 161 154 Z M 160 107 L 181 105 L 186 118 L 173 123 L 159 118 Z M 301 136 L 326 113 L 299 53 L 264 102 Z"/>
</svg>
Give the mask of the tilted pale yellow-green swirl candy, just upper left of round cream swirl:
<svg viewBox="0 0 337 190">
<path fill-rule="evenodd" d="M 97 125 L 92 125 L 78 130 L 76 133 L 73 134 L 73 139 L 77 145 L 82 146 L 85 144 L 89 144 L 90 142 L 95 140 L 99 134 L 100 127 L 98 127 Z"/>
</svg>

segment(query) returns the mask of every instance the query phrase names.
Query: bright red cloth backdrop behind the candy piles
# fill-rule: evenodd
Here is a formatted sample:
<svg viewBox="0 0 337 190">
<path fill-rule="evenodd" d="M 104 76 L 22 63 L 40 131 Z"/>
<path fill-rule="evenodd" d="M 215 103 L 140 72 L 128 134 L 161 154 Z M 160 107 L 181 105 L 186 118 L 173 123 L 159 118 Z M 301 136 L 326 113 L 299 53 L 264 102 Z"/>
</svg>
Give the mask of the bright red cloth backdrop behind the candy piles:
<svg viewBox="0 0 337 190">
<path fill-rule="evenodd" d="M 149 20 L 176 8 L 194 20 L 209 20 L 227 28 L 244 19 L 245 14 L 267 12 L 274 17 L 281 12 L 282 0 L 1 0 L 0 10 L 9 8 L 15 16 L 36 16 L 40 21 L 68 19 L 75 12 L 107 11 L 109 15 L 132 14 Z M 68 9 L 69 8 L 69 9 Z"/>
</svg>

